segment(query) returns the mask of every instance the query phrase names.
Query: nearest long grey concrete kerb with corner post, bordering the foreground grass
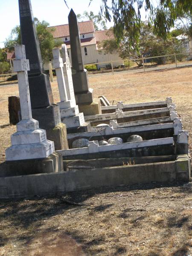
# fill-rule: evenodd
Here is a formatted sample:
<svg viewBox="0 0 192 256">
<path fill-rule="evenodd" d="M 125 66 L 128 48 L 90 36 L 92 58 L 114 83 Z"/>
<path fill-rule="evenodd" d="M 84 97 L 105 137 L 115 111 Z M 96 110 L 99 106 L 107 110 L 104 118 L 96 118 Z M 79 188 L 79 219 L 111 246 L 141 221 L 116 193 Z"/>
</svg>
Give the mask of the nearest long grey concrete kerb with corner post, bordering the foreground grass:
<svg viewBox="0 0 192 256">
<path fill-rule="evenodd" d="M 23 198 L 102 186 L 189 181 L 189 157 L 176 161 L 0 177 L 0 198 Z"/>
</svg>

